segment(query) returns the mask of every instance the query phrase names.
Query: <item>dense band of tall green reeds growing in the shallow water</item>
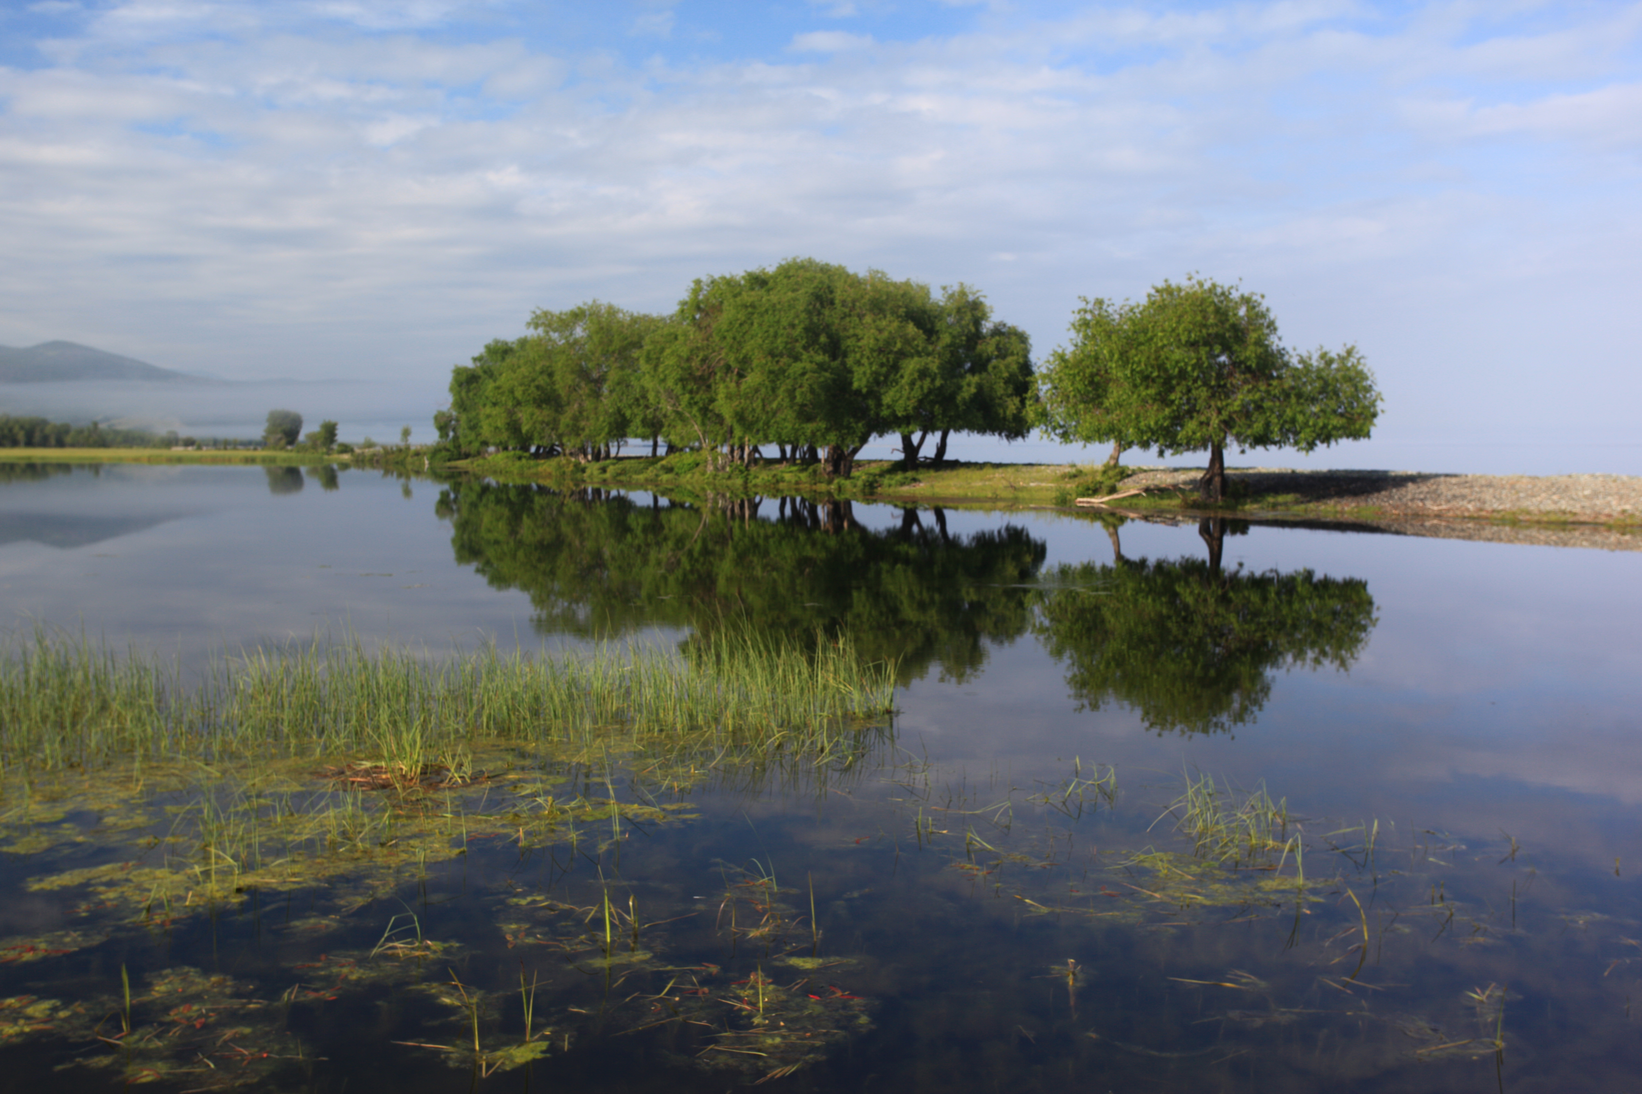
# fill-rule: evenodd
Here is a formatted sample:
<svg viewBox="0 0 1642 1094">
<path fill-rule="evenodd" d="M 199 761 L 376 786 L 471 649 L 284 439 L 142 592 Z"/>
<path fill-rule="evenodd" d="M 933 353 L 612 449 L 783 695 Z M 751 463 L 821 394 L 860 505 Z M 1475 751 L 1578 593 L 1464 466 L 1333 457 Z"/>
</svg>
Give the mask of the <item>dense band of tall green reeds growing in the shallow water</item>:
<svg viewBox="0 0 1642 1094">
<path fill-rule="evenodd" d="M 141 654 L 36 633 L 0 651 L 0 764 L 368 753 L 415 769 L 475 740 L 826 759 L 882 722 L 893 692 L 895 666 L 849 641 L 800 650 L 750 631 L 708 638 L 688 659 L 611 645 L 435 659 L 315 641 L 218 658 L 192 686 Z"/>
</svg>

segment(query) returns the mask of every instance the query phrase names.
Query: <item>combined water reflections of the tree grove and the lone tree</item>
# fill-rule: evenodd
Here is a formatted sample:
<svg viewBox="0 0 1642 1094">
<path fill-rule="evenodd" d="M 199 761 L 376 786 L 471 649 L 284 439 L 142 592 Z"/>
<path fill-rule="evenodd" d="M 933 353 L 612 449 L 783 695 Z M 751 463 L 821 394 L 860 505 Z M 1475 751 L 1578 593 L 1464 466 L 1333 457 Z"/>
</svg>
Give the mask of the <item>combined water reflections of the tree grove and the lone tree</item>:
<svg viewBox="0 0 1642 1094">
<path fill-rule="evenodd" d="M 895 658 L 905 684 L 931 668 L 970 679 L 990 643 L 1031 631 L 1082 709 L 1123 704 L 1159 732 L 1246 725 L 1276 671 L 1346 669 L 1374 627 L 1363 581 L 1225 571 L 1225 536 L 1248 528 L 1225 518 L 1199 525 L 1207 561 L 1123 558 L 1110 523 L 1110 564 L 1039 574 L 1043 540 L 1018 525 L 952 535 L 941 508 L 903 508 L 898 526 L 872 530 L 836 500 L 640 504 L 471 481 L 448 485 L 438 513 L 456 561 L 525 592 L 544 633 L 847 633 L 869 658 Z"/>
</svg>

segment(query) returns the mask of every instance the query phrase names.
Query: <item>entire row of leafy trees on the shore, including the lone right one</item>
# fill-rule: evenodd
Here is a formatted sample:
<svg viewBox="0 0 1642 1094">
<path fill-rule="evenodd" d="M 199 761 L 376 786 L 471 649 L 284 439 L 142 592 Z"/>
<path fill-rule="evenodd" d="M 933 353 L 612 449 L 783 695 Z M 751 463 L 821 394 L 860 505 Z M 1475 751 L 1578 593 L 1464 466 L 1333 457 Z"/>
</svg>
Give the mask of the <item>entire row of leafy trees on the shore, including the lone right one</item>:
<svg viewBox="0 0 1642 1094">
<path fill-rule="evenodd" d="M 1025 331 L 967 285 L 934 294 L 816 259 L 696 280 L 672 315 L 598 300 L 540 310 L 530 333 L 456 366 L 433 417 L 452 454 L 608 459 L 629 438 L 693 448 L 711 469 L 782 463 L 849 476 L 877 436 L 903 464 L 941 464 L 952 433 L 1174 454 L 1210 449 L 1204 492 L 1225 492 L 1225 446 L 1368 436 L 1379 394 L 1351 346 L 1289 353 L 1256 294 L 1199 277 L 1140 303 L 1084 300 L 1072 341 L 1034 372 Z"/>
</svg>

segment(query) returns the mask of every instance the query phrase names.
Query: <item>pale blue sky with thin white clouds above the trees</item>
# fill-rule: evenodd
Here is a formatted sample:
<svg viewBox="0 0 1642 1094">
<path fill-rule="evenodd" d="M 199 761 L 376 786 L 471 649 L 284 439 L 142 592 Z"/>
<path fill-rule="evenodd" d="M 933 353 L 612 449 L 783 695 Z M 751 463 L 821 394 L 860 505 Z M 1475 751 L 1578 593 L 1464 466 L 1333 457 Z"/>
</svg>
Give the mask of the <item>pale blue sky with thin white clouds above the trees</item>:
<svg viewBox="0 0 1642 1094">
<path fill-rule="evenodd" d="M 7 0 L 0 344 L 432 408 L 532 308 L 793 254 L 969 282 L 1039 356 L 1197 271 L 1366 353 L 1378 440 L 1322 463 L 1642 472 L 1639 41 L 1642 3 Z"/>
</svg>

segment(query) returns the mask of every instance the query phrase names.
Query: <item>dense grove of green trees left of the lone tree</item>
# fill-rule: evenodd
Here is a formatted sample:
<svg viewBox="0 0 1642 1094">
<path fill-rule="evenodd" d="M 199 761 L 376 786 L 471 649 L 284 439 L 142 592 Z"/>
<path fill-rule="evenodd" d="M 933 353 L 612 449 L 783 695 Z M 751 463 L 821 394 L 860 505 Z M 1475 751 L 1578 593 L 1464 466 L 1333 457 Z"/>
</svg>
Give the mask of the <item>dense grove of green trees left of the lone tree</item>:
<svg viewBox="0 0 1642 1094">
<path fill-rule="evenodd" d="M 529 328 L 453 371 L 433 418 L 450 454 L 593 461 L 642 438 L 718 467 L 775 456 L 847 476 L 875 436 L 900 435 L 911 464 L 931 436 L 941 461 L 954 431 L 1033 425 L 1031 343 L 965 285 L 790 259 L 696 280 L 670 317 L 594 300 Z"/>
</svg>

